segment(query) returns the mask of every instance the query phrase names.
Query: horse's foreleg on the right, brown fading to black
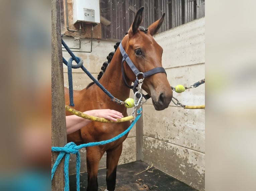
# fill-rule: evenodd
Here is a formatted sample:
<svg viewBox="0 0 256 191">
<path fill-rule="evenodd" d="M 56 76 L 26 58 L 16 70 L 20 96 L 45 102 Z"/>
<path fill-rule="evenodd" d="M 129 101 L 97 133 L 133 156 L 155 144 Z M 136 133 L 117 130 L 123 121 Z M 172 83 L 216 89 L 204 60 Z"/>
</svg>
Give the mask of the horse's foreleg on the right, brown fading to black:
<svg viewBox="0 0 256 191">
<path fill-rule="evenodd" d="M 116 186 L 116 168 L 117 163 L 122 153 L 123 144 L 118 147 L 107 150 L 107 190 L 114 191 Z"/>
</svg>

